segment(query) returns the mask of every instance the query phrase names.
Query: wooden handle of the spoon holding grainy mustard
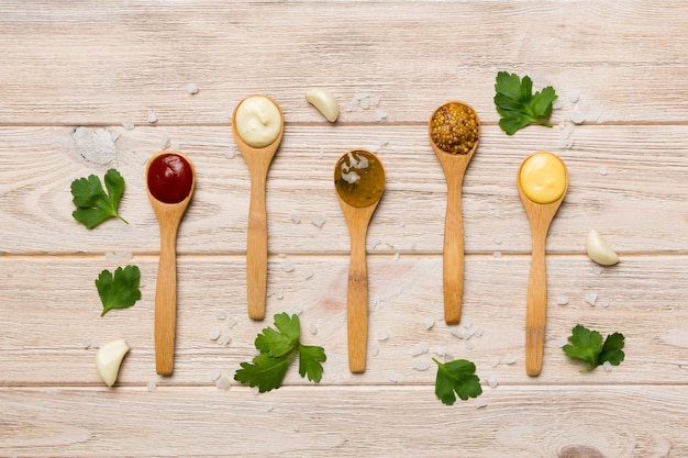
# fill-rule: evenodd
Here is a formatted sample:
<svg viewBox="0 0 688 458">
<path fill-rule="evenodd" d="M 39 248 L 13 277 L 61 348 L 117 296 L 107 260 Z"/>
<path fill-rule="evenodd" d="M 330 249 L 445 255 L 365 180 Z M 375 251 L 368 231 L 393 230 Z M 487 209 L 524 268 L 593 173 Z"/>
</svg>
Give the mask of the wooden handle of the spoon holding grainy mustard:
<svg viewBox="0 0 688 458">
<path fill-rule="evenodd" d="M 464 299 L 464 221 L 462 183 L 450 183 L 444 221 L 444 321 L 460 322 Z"/>
</svg>

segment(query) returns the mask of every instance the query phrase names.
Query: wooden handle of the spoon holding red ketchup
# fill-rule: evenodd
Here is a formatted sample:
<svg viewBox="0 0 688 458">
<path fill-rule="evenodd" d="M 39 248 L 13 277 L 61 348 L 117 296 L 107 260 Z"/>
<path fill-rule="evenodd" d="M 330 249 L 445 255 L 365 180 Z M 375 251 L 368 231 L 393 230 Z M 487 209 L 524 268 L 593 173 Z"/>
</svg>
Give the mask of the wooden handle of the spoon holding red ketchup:
<svg viewBox="0 0 688 458">
<path fill-rule="evenodd" d="M 177 225 L 160 224 L 160 257 L 155 287 L 155 369 L 173 373 L 177 326 Z"/>
</svg>

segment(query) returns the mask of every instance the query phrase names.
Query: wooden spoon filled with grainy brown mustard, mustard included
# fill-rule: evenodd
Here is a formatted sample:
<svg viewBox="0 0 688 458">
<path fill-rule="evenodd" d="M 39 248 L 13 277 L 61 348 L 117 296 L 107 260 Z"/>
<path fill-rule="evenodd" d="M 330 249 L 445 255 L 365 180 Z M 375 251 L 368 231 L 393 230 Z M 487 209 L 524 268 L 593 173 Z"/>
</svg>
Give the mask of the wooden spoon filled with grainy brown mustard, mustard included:
<svg viewBox="0 0 688 458">
<path fill-rule="evenodd" d="M 478 147 L 480 120 L 468 104 L 452 101 L 437 108 L 428 124 L 430 143 L 447 183 L 444 221 L 444 321 L 460 321 L 464 298 L 464 222 L 462 188 L 468 163 Z"/>
</svg>

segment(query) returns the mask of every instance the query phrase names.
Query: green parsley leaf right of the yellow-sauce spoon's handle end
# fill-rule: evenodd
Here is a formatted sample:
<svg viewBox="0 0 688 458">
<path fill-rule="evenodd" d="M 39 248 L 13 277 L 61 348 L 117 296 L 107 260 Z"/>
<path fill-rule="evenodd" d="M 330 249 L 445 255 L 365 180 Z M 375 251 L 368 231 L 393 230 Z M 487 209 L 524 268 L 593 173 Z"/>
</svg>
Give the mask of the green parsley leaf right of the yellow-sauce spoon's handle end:
<svg viewBox="0 0 688 458">
<path fill-rule="evenodd" d="M 624 337 L 620 333 L 611 334 L 602 342 L 600 333 L 579 324 L 572 329 L 568 342 L 570 344 L 564 345 L 562 349 L 568 357 L 587 362 L 584 371 L 590 371 L 607 361 L 619 366 L 625 357 L 622 350 Z"/>
</svg>

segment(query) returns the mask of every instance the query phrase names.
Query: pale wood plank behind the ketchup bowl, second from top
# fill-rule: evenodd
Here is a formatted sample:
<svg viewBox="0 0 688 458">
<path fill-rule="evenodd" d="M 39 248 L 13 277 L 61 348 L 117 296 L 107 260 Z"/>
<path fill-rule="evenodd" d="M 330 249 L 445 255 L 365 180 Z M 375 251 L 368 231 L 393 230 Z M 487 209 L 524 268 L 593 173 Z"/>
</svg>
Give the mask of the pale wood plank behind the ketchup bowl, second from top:
<svg viewBox="0 0 688 458">
<path fill-rule="evenodd" d="M 180 143 L 198 174 L 197 191 L 180 227 L 179 252 L 245 252 L 248 172 L 241 155 L 231 159 L 226 155 L 228 148 L 234 150 L 229 129 L 110 129 L 121 135 L 114 158 L 103 165 L 79 155 L 71 129 L 0 129 L 0 144 L 12 152 L 0 157 L 1 252 L 157 252 L 157 221 L 143 174 L 146 158 L 160 147 L 164 135 Z M 688 142 L 685 127 L 578 126 L 572 149 L 557 149 L 559 135 L 534 127 L 507 137 L 496 127 L 485 129 L 464 181 L 467 253 L 530 252 L 530 228 L 514 180 L 520 161 L 536 149 L 559 154 L 570 177 L 569 192 L 551 228 L 551 252 L 582 253 L 585 237 L 595 227 L 622 254 L 685 253 L 685 237 L 677 230 L 688 217 L 688 161 L 677 146 Z M 388 178 L 370 224 L 370 249 L 442 252 L 446 183 L 428 146 L 425 127 L 290 126 L 268 178 L 271 254 L 347 253 L 348 235 L 332 175 L 337 158 L 356 147 L 378 149 Z M 121 211 L 131 224 L 113 220 L 88 231 L 71 219 L 69 185 L 90 174 L 102 176 L 109 167 L 118 168 L 126 180 Z"/>
</svg>

